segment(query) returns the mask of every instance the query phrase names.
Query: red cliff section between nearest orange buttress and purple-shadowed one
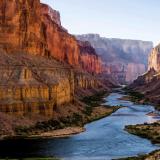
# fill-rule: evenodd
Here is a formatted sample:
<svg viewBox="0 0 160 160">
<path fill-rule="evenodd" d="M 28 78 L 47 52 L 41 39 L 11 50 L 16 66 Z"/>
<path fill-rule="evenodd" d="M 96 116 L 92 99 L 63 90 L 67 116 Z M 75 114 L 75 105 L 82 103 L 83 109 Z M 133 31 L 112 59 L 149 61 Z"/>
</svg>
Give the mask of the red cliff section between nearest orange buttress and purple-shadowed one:
<svg viewBox="0 0 160 160">
<path fill-rule="evenodd" d="M 69 35 L 59 23 L 57 23 L 59 19 L 53 21 L 53 12 L 50 14 L 50 7 L 46 5 L 41 6 L 42 21 L 46 26 L 46 41 L 50 55 L 57 60 L 78 66 L 80 52 L 77 41 L 72 35 Z M 47 9 L 48 12 L 46 12 Z"/>
</svg>

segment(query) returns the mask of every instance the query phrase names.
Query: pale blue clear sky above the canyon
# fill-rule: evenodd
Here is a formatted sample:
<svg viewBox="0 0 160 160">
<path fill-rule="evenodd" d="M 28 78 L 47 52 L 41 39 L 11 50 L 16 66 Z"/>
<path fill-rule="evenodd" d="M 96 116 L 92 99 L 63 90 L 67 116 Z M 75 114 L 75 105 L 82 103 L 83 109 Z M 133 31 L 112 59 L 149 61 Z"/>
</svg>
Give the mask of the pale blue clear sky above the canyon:
<svg viewBox="0 0 160 160">
<path fill-rule="evenodd" d="M 41 0 L 60 11 L 71 34 L 160 43 L 160 0 Z"/>
</svg>

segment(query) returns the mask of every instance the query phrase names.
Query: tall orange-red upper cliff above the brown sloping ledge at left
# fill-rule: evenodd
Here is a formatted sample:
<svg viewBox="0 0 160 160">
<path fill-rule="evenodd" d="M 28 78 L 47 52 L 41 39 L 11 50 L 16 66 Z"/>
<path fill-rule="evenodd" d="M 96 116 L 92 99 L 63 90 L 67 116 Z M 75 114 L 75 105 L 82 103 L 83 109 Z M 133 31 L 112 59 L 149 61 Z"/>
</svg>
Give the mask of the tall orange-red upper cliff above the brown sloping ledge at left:
<svg viewBox="0 0 160 160">
<path fill-rule="evenodd" d="M 52 56 L 81 67 L 78 42 L 61 26 L 58 11 L 39 0 L 3 0 L 0 11 L 0 48 L 8 53 Z M 95 62 L 95 68 L 96 65 Z"/>
</svg>

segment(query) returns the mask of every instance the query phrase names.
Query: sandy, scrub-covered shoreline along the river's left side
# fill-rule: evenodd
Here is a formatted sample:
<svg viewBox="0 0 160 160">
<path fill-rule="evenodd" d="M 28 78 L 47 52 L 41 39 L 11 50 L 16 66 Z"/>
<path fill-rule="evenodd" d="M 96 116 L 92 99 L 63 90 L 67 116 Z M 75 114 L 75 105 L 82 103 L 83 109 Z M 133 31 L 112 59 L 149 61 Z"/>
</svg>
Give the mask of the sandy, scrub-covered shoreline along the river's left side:
<svg viewBox="0 0 160 160">
<path fill-rule="evenodd" d="M 78 115 L 77 113 L 73 118 L 72 115 L 69 119 L 71 122 L 68 124 L 68 119 L 66 119 L 66 124 L 63 124 L 62 127 L 60 126 L 56 129 L 47 130 L 45 128 L 50 128 L 50 122 L 45 122 L 45 124 L 43 124 L 44 128 L 42 127 L 43 129 L 36 128 L 36 126 L 31 126 L 31 128 L 20 128 L 20 132 L 17 132 L 17 134 L 1 135 L 0 141 L 6 139 L 63 138 L 85 132 L 86 124 L 108 117 L 118 109 L 122 108 L 121 106 L 104 105 L 104 97 L 106 97 L 106 93 L 103 93 L 102 95 L 101 93 L 98 93 L 98 95 L 96 94 L 90 97 L 85 97 L 84 102 L 86 107 L 82 115 Z"/>
</svg>

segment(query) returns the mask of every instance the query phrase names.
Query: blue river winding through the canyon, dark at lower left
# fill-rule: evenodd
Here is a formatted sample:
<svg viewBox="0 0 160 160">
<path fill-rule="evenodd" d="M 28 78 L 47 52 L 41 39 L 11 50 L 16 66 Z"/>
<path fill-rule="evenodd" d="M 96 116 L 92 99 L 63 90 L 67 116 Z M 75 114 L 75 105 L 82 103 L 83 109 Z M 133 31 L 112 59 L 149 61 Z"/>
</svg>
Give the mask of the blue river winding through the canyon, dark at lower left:
<svg viewBox="0 0 160 160">
<path fill-rule="evenodd" d="M 0 157 L 48 157 L 65 160 L 111 160 L 149 153 L 160 147 L 149 140 L 124 131 L 125 125 L 154 122 L 146 114 L 154 108 L 119 100 L 122 93 L 106 97 L 108 105 L 123 105 L 111 116 L 85 126 L 86 132 L 68 138 L 42 140 L 5 140 L 0 142 Z"/>
</svg>

